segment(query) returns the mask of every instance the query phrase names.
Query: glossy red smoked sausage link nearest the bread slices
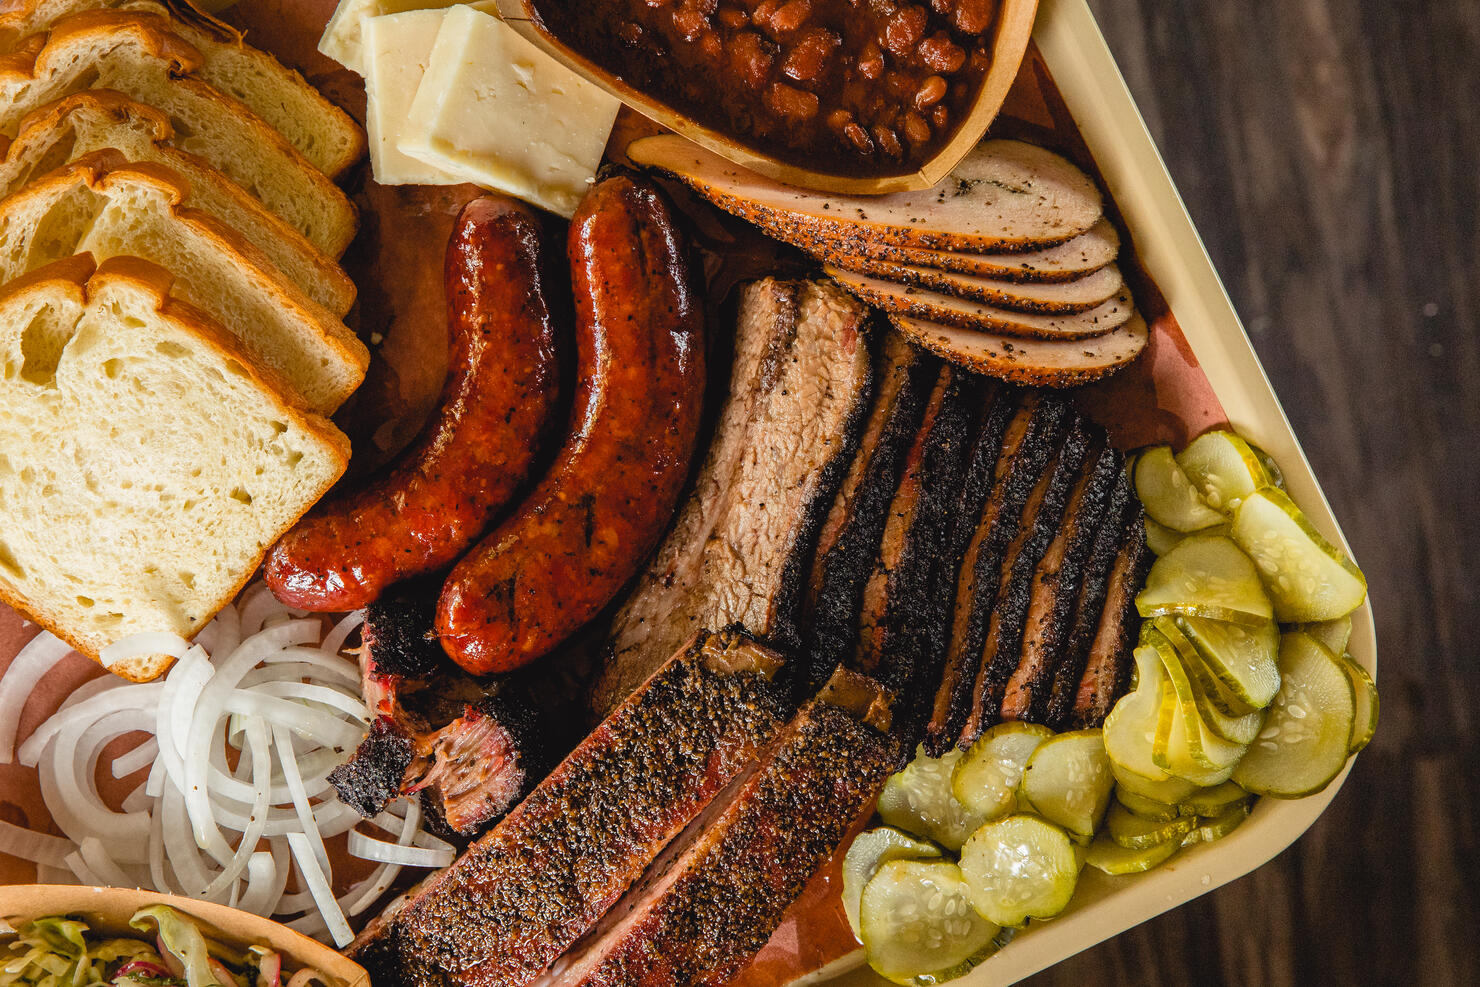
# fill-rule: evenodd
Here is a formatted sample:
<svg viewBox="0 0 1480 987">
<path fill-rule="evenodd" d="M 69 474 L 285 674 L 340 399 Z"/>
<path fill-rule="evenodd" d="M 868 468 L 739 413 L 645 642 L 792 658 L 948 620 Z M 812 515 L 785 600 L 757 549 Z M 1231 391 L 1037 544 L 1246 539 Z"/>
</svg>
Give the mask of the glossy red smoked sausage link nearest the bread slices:
<svg viewBox="0 0 1480 987">
<path fill-rule="evenodd" d="M 559 339 L 546 305 L 540 220 L 481 197 L 445 262 L 448 374 L 438 410 L 379 481 L 311 511 L 268 553 L 272 595 L 355 610 L 451 565 L 528 479 L 559 407 Z"/>
</svg>

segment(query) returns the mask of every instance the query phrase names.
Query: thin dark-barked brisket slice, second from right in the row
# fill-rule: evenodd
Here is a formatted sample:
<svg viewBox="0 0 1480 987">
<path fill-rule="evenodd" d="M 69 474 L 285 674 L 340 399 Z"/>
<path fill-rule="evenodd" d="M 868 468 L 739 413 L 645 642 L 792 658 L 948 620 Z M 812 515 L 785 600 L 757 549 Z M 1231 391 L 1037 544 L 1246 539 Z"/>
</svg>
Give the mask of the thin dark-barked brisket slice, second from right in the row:
<svg viewBox="0 0 1480 987">
<path fill-rule="evenodd" d="M 1064 521 L 1033 576 L 1021 657 L 1002 695 L 1002 719 L 1043 722 L 1048 713 L 1054 672 L 1064 660 L 1085 559 L 1104 522 L 1116 478 L 1125 472 L 1125 459 L 1109 447 L 1091 456 L 1091 463 L 1080 474 Z"/>
</svg>

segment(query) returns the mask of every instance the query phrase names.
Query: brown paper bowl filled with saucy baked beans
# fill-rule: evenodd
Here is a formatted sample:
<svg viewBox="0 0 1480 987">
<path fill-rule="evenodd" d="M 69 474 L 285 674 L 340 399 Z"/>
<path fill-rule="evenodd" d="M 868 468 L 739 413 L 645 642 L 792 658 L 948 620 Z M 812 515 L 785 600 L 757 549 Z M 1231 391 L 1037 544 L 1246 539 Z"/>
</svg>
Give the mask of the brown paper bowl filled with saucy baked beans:
<svg viewBox="0 0 1480 987">
<path fill-rule="evenodd" d="M 1037 0 L 497 0 L 651 120 L 789 185 L 929 188 L 981 139 Z"/>
</svg>

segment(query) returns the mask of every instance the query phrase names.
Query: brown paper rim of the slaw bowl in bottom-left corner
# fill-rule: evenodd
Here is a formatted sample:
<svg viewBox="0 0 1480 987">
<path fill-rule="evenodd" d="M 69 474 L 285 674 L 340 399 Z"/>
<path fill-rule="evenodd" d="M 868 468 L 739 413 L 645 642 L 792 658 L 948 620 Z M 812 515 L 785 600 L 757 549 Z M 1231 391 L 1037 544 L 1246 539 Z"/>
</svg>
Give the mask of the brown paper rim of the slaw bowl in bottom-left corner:
<svg viewBox="0 0 1480 987">
<path fill-rule="evenodd" d="M 129 926 L 129 919 L 151 904 L 167 904 L 181 914 L 191 916 L 203 926 L 207 938 L 221 940 L 228 946 L 269 946 L 283 954 L 287 969 L 317 969 L 329 977 L 334 987 L 370 987 L 370 975 L 358 963 L 323 943 L 315 943 L 271 919 L 228 909 L 223 904 L 129 888 L 0 886 L 0 920 L 9 923 L 12 929 L 47 914 L 75 914 L 105 935 L 136 937 L 139 932 Z M 0 943 L 9 937 L 10 932 L 0 934 Z"/>
</svg>

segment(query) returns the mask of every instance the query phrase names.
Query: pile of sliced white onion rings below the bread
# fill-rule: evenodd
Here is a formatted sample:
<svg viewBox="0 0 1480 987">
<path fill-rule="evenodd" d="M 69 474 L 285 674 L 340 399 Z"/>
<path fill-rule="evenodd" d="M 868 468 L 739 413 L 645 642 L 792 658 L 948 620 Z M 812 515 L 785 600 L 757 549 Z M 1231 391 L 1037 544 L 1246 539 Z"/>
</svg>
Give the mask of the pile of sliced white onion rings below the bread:
<svg viewBox="0 0 1480 987">
<path fill-rule="evenodd" d="M 43 880 L 149 886 L 348 943 L 346 912 L 374 906 L 404 867 L 444 866 L 453 855 L 422 830 L 414 802 L 398 802 L 371 823 L 395 842 L 357 830 L 363 820 L 329 783 L 371 716 L 358 663 L 343 654 L 363 621 L 354 613 L 326 630 L 320 617 L 284 607 L 256 585 L 195 644 L 170 635 L 120 642 L 110 658 L 169 653 L 178 660 L 147 685 L 112 676 L 86 682 L 15 749 L 19 709 L 70 651 L 38 638 L 0 678 L 0 753 L 37 768 L 67 839 L 0 821 L 0 852 L 37 863 Z M 98 762 L 110 743 L 136 731 L 152 735 L 104 765 L 118 778 L 149 768 L 118 812 L 98 793 Z M 346 833 L 351 855 L 374 867 L 336 901 L 326 841 Z M 295 877 L 299 889 L 289 892 Z"/>
</svg>

